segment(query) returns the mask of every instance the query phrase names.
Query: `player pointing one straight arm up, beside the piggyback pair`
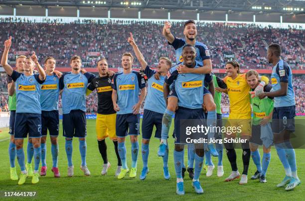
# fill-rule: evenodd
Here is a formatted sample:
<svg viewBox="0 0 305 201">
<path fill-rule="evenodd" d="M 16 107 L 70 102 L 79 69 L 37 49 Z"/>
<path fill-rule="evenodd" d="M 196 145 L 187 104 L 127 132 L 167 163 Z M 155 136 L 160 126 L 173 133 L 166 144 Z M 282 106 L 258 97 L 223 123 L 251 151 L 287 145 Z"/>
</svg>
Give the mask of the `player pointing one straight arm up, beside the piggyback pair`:
<svg viewBox="0 0 305 201">
<path fill-rule="evenodd" d="M 153 125 L 156 127 L 154 134 L 155 138 L 161 139 L 161 129 L 162 129 L 162 116 L 165 111 L 165 101 L 163 99 L 163 84 L 164 79 L 167 74 L 168 69 L 171 67 L 171 61 L 166 57 L 160 57 L 157 66 L 157 71 L 154 71 L 148 66 L 145 58 L 140 52 L 132 33 L 130 33 L 130 38 L 128 39 L 129 44 L 133 47 L 134 52 L 139 60 L 144 73 L 148 76 L 148 94 L 144 105 L 144 116 L 142 121 L 142 160 L 143 169 L 140 176 L 141 180 L 147 177 L 149 172 L 148 168 L 148 158 L 149 158 L 149 143 L 152 137 Z M 158 74 L 158 78 L 156 78 Z M 168 146 L 166 145 L 166 151 L 163 156 L 163 176 L 164 179 L 169 179 L 170 175 L 168 172 Z"/>
</svg>

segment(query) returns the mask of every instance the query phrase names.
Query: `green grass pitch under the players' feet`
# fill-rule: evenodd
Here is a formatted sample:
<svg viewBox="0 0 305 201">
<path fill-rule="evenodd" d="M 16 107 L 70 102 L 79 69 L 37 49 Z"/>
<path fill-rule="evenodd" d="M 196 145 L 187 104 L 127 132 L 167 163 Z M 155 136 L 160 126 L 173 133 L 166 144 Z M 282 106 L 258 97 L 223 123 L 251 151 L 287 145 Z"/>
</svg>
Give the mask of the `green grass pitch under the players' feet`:
<svg viewBox="0 0 305 201">
<path fill-rule="evenodd" d="M 62 126 L 60 126 L 62 129 Z M 204 190 L 203 195 L 196 195 L 191 187 L 191 180 L 188 175 L 184 178 L 185 196 L 177 196 L 176 179 L 173 166 L 173 139 L 169 138 L 169 159 L 168 166 L 171 179 L 166 181 L 163 179 L 162 159 L 157 156 L 158 140 L 152 138 L 150 143 L 150 157 L 149 168 L 150 173 L 146 180 L 141 181 L 139 175 L 143 167 L 141 156 L 141 143 L 139 150 L 137 177 L 130 179 L 127 177 L 123 180 L 118 180 L 115 176 L 117 166 L 117 159 L 114 152 L 113 143 L 107 139 L 108 158 L 111 163 L 111 168 L 106 176 L 101 176 L 102 158 L 98 150 L 97 140 L 95 135 L 95 120 L 87 120 L 87 165 L 91 171 L 91 176 L 86 177 L 79 169 L 80 154 L 78 150 L 78 140 L 73 140 L 73 164 L 74 177 L 67 177 L 67 159 L 64 149 L 64 138 L 62 137 L 62 130 L 59 136 L 59 170 L 61 178 L 54 178 L 51 172 L 52 158 L 50 141 L 47 139 L 47 175 L 40 177 L 40 181 L 36 185 L 31 184 L 31 178 L 28 178 L 26 183 L 18 186 L 16 181 L 9 179 L 9 160 L 7 154 L 9 135 L 8 129 L 0 129 L 0 200 L 4 198 L 4 192 L 36 192 L 34 199 L 39 200 L 304 200 L 305 188 L 301 184 L 294 191 L 285 192 L 284 188 L 276 188 L 276 185 L 282 181 L 285 172 L 282 164 L 276 154 L 275 149 L 272 149 L 271 163 L 267 172 L 267 183 L 261 184 L 258 180 L 251 181 L 250 177 L 256 171 L 256 167 L 250 160 L 248 184 L 239 185 L 239 180 L 225 183 L 224 179 L 230 174 L 230 165 L 226 154 L 223 156 L 224 171 L 223 177 L 217 177 L 217 170 L 215 168 L 213 176 L 207 178 L 202 172 L 200 182 Z M 172 131 L 170 132 L 172 133 Z M 139 137 L 141 142 L 142 138 Z M 24 150 L 26 150 L 27 140 L 24 142 Z M 127 162 L 131 166 L 131 144 L 127 140 Z M 260 148 L 261 155 L 262 148 Z M 242 157 L 241 150 L 237 150 L 238 168 L 242 171 Z M 297 149 L 297 166 L 298 175 L 301 180 L 305 180 L 305 150 Z M 25 153 L 26 156 L 26 153 Z M 185 153 L 185 163 L 187 156 Z M 217 165 L 217 158 L 213 158 L 213 163 Z M 32 163 L 32 166 L 34 164 Z M 16 167 L 19 174 L 19 166 L 16 160 Z M 216 166 L 217 167 L 217 166 Z M 187 173 L 187 172 L 186 172 Z M 23 197 L 24 198 L 24 197 Z M 13 199 L 23 199 L 16 198 Z M 6 199 L 5 199 L 6 200 Z"/>
</svg>

